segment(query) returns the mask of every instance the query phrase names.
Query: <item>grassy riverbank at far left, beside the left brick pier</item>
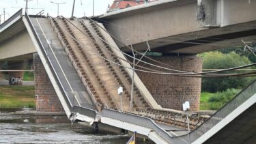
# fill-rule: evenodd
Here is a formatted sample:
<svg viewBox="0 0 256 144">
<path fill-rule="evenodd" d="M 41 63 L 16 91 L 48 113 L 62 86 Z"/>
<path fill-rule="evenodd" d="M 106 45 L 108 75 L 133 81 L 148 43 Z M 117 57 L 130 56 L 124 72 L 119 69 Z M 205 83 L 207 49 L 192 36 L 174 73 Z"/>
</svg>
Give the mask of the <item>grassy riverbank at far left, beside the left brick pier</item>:
<svg viewBox="0 0 256 144">
<path fill-rule="evenodd" d="M 35 107 L 33 86 L 0 86 L 0 108 Z"/>
</svg>

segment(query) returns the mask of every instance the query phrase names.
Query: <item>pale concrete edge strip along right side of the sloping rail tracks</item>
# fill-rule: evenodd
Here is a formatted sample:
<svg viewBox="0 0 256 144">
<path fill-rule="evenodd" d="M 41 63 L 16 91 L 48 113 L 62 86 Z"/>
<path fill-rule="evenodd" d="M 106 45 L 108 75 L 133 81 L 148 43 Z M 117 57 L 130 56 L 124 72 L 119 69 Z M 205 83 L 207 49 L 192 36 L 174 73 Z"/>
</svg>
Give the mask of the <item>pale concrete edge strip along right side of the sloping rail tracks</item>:
<svg viewBox="0 0 256 144">
<path fill-rule="evenodd" d="M 98 25 L 100 25 L 100 27 L 104 28 L 104 25 L 102 25 L 101 23 L 98 23 Z M 104 30 L 106 30 L 106 29 L 104 28 Z M 126 57 L 124 57 L 123 53 L 121 53 L 120 51 L 117 51 L 116 48 L 118 48 L 118 46 L 117 46 L 117 44 L 115 44 L 114 40 L 111 38 L 111 35 L 109 35 L 109 33 L 106 33 L 106 31 L 104 31 L 104 30 L 100 29 L 100 32 L 102 33 L 104 38 L 106 38 L 106 40 L 110 43 L 110 46 L 111 46 L 113 52 L 116 55 L 118 55 L 119 57 L 122 57 L 122 59 L 126 59 Z M 113 46 L 115 48 L 113 48 Z M 120 61 L 121 61 L 123 66 L 126 66 L 128 68 L 132 68 L 130 66 L 130 63 L 127 63 L 127 62 L 122 61 L 122 60 L 120 60 Z M 132 77 L 132 70 L 128 69 L 128 68 L 125 68 L 126 72 L 128 72 L 129 76 Z M 145 87 L 145 85 L 142 83 L 141 78 L 139 78 L 139 76 L 137 75 L 136 72 L 134 72 L 134 83 L 139 88 L 139 91 L 141 91 L 141 93 L 143 94 L 143 97 L 145 98 L 147 103 L 150 104 L 150 106 L 152 106 L 153 109 L 162 109 L 162 106 L 160 106 L 156 102 L 156 100 L 153 98 L 150 91 L 148 91 L 147 87 Z"/>
</svg>

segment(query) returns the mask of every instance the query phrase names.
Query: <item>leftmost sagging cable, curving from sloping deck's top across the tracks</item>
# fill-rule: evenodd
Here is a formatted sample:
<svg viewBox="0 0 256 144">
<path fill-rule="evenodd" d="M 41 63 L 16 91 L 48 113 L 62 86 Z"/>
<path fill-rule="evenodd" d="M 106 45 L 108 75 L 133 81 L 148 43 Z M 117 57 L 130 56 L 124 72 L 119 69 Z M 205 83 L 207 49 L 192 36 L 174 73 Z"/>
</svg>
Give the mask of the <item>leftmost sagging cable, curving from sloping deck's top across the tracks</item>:
<svg viewBox="0 0 256 144">
<path fill-rule="evenodd" d="M 56 21 L 57 22 L 57 21 Z M 57 22 L 58 23 L 58 22 Z M 59 24 L 59 23 L 58 23 Z M 61 27 L 61 25 L 59 25 L 59 27 Z M 67 33 L 69 36 L 70 36 L 70 38 L 72 38 L 73 40 L 75 40 L 76 42 L 78 42 L 79 44 L 81 44 L 81 46 L 83 46 L 84 48 L 87 48 L 87 46 L 85 46 L 85 45 L 83 45 L 81 42 L 79 42 L 78 40 L 76 40 L 76 38 L 74 38 L 72 35 L 70 35 L 70 33 L 68 33 L 68 31 L 66 31 L 66 29 L 64 29 L 63 27 L 61 27 L 61 29 L 63 29 L 63 31 L 65 32 L 65 33 Z M 91 49 L 91 48 L 89 48 L 89 49 Z M 106 61 L 109 61 L 110 63 L 114 63 L 115 65 L 117 65 L 117 66 L 122 66 L 122 67 L 124 67 L 124 68 L 128 68 L 128 69 L 131 69 L 131 70 L 137 70 L 137 71 L 140 71 L 140 72 L 148 72 L 148 73 L 152 73 L 152 74 L 167 74 L 167 75 L 177 75 L 177 76 L 179 76 L 179 75 L 185 75 L 185 74 L 178 74 L 178 73 L 168 73 L 168 72 L 152 72 L 152 71 L 148 71 L 148 70 L 140 70 L 140 69 L 136 69 L 136 68 L 134 68 L 134 69 L 132 69 L 132 68 L 129 68 L 129 67 L 127 67 L 127 66 L 123 66 L 122 64 L 119 64 L 119 63 L 115 63 L 114 61 L 111 61 L 111 60 L 109 60 L 109 59 L 106 59 L 106 58 L 104 58 L 104 57 L 102 57 L 102 56 L 100 56 L 100 55 L 98 55 L 97 53 L 94 53 L 94 55 L 97 55 L 98 57 L 100 57 L 100 58 L 102 58 L 102 59 L 105 59 Z M 130 61 L 129 61 L 130 62 Z M 148 68 L 147 68 L 148 69 Z M 188 74 L 186 74 L 186 75 L 188 75 Z M 212 75 L 216 75 L 216 74 L 212 74 Z M 224 75 L 226 75 L 226 74 L 224 74 Z"/>
</svg>

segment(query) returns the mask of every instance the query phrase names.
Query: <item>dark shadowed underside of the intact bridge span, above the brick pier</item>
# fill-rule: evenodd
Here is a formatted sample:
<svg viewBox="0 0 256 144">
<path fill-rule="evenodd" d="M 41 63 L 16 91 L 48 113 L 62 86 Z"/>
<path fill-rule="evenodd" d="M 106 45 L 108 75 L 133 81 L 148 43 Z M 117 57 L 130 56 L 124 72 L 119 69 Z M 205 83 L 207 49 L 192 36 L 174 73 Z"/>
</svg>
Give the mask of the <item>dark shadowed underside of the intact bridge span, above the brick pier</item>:
<svg viewBox="0 0 256 144">
<path fill-rule="evenodd" d="M 196 55 L 197 53 L 214 51 L 221 48 L 243 47 L 244 44 L 241 40 L 244 40 L 244 42 L 255 42 L 255 33 L 256 21 L 252 21 L 159 38 L 150 40 L 149 43 L 154 52 Z M 145 42 L 134 44 L 133 46 L 139 51 L 145 51 L 145 48 L 147 48 Z M 128 51 L 127 48 L 122 49 Z"/>
</svg>

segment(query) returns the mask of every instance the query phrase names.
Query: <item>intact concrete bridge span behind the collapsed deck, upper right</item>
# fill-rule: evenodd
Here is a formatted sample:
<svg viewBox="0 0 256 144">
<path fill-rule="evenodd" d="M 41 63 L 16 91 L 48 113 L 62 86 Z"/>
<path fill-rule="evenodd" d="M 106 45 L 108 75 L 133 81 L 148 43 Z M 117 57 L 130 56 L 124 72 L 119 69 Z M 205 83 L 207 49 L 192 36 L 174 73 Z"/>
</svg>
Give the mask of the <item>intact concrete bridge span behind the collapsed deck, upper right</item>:
<svg viewBox="0 0 256 144">
<path fill-rule="evenodd" d="M 165 55 L 196 55 L 240 47 L 243 46 L 241 40 L 255 42 L 255 1 L 201 0 L 203 11 L 197 2 L 154 1 L 95 19 L 113 33 L 119 48 L 128 53 L 131 50 L 125 45 L 132 44 L 134 49 L 143 52 L 147 50 L 147 41 L 153 52 Z M 199 12 L 205 14 L 203 20 L 197 20 Z"/>
</svg>

